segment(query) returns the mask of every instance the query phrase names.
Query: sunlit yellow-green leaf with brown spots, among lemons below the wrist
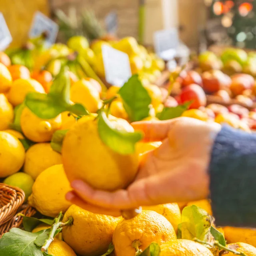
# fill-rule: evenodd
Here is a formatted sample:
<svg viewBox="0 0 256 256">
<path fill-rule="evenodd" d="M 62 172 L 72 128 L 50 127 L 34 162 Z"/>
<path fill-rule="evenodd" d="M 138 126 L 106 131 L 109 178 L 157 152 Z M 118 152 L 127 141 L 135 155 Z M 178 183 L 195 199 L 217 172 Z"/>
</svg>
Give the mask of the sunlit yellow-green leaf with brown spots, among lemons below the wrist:
<svg viewBox="0 0 256 256">
<path fill-rule="evenodd" d="M 210 235 L 210 215 L 202 208 L 192 205 L 182 210 L 181 215 L 182 239 L 193 240 L 198 238 L 207 242 Z"/>
</svg>

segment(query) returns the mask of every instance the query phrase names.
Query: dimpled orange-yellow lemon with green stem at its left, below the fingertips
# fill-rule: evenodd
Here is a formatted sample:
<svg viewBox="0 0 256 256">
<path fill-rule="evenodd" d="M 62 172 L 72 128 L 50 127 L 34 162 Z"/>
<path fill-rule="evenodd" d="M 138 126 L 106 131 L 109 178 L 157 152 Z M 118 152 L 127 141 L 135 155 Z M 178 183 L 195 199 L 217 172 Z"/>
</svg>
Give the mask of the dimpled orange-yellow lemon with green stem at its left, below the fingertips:
<svg viewBox="0 0 256 256">
<path fill-rule="evenodd" d="M 116 225 L 121 218 L 94 214 L 72 205 L 66 211 L 63 222 L 72 216 L 74 221 L 62 229 L 64 241 L 81 256 L 99 256 L 108 250 Z"/>
</svg>

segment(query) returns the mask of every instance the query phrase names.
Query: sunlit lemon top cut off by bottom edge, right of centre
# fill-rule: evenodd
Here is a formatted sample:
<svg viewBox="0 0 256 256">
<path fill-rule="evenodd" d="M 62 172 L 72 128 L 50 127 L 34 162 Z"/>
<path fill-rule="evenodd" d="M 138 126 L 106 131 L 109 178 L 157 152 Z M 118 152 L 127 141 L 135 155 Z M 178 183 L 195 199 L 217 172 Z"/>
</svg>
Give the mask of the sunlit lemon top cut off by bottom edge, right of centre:
<svg viewBox="0 0 256 256">
<path fill-rule="evenodd" d="M 163 244 L 160 250 L 160 256 L 213 256 L 212 252 L 202 244 L 186 239 Z"/>
</svg>

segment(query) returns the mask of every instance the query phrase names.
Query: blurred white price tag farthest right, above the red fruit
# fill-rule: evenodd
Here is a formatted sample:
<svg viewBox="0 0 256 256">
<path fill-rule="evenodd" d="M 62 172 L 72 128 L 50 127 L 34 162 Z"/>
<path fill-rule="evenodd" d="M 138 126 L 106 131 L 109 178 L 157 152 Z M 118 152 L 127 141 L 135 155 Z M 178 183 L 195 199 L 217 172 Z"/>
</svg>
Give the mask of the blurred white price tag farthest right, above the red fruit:
<svg viewBox="0 0 256 256">
<path fill-rule="evenodd" d="M 164 60 L 171 60 L 175 57 L 179 45 L 178 30 L 170 28 L 159 30 L 154 33 L 155 51 Z"/>
</svg>

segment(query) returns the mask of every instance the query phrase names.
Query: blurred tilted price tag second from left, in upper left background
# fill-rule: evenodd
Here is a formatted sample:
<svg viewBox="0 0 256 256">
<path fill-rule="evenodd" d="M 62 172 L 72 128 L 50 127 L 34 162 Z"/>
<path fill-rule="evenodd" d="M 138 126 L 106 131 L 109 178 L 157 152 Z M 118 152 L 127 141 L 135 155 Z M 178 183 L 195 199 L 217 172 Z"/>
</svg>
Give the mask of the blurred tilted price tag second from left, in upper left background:
<svg viewBox="0 0 256 256">
<path fill-rule="evenodd" d="M 43 32 L 47 32 L 48 36 L 46 40 L 46 45 L 50 46 L 54 44 L 58 34 L 58 30 L 58 24 L 42 14 L 42 12 L 36 12 L 32 27 L 29 32 L 29 37 L 34 38 L 40 36 L 40 34 L 42 34 Z"/>
</svg>

